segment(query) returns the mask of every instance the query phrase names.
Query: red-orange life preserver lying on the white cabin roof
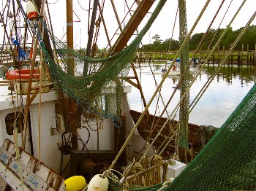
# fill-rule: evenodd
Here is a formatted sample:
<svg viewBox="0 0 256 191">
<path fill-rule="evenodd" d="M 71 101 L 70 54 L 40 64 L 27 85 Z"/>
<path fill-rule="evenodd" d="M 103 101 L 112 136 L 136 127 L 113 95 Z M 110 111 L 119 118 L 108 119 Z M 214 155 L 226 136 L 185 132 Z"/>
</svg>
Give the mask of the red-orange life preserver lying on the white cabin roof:
<svg viewBox="0 0 256 191">
<path fill-rule="evenodd" d="M 32 79 L 39 79 L 39 69 L 34 69 Z M 15 69 L 7 71 L 7 79 L 29 79 L 30 69 Z"/>
</svg>

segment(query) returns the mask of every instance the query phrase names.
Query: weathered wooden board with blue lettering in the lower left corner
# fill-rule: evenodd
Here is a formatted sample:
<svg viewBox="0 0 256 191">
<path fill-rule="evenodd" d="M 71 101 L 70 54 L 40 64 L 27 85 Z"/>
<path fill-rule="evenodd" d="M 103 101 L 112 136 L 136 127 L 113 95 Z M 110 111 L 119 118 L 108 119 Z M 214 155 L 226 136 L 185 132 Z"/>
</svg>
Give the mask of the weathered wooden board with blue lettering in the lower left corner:
<svg viewBox="0 0 256 191">
<path fill-rule="evenodd" d="M 5 190 L 9 185 L 13 190 L 21 190 L 21 180 L 23 184 L 31 190 L 64 190 L 64 179 L 56 174 L 44 163 L 39 162 L 19 147 L 20 161 L 15 160 L 15 144 L 9 139 L 4 141 L 0 147 L 0 181 Z M 24 190 L 26 190 L 24 188 Z M 0 190 L 1 191 L 1 190 Z"/>
</svg>

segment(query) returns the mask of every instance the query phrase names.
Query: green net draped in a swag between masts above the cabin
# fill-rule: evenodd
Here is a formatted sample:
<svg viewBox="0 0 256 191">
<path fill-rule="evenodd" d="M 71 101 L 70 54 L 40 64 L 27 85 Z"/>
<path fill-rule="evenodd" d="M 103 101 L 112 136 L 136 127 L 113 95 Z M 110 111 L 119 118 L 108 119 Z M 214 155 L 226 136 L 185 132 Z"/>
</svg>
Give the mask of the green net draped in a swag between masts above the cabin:
<svg viewBox="0 0 256 191">
<path fill-rule="evenodd" d="M 129 46 L 108 58 L 90 58 L 81 55 L 48 33 L 58 55 L 54 61 L 40 37 L 42 35 L 38 35 L 56 93 L 60 97 L 71 98 L 80 108 L 86 109 L 91 114 L 120 121 L 121 93 L 124 90 L 124 79 L 130 69 L 129 63 L 165 1 L 159 1 L 146 26 Z"/>
</svg>

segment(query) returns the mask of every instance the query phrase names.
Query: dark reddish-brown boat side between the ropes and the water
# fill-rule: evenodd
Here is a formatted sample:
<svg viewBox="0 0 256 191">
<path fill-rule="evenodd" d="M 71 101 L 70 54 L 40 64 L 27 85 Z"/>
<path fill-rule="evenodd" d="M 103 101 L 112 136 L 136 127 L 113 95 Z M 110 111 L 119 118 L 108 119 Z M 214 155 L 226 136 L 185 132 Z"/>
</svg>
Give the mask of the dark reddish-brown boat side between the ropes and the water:
<svg viewBox="0 0 256 191">
<path fill-rule="evenodd" d="M 129 111 L 132 115 L 132 120 L 137 123 L 138 119 L 140 118 L 141 113 L 136 112 L 134 110 Z M 150 119 L 150 120 L 149 120 Z M 167 118 L 165 117 L 157 117 L 150 114 L 150 117 L 147 115 L 143 116 L 143 119 L 141 120 L 140 124 L 138 125 L 138 133 L 140 136 L 143 137 L 143 139 L 146 141 L 149 139 L 149 142 L 157 136 L 157 133 L 162 128 L 162 126 L 165 124 Z M 151 133 L 151 124 L 154 124 L 156 128 Z M 162 143 L 165 141 L 168 135 L 172 136 L 173 133 L 171 133 L 170 128 L 173 128 L 173 130 L 176 130 L 176 120 L 171 120 L 167 122 L 167 125 L 165 125 L 165 128 L 163 128 L 162 132 L 160 133 L 157 140 L 154 142 L 155 149 L 162 149 Z M 207 132 L 207 133 L 206 133 Z M 217 132 L 217 128 L 214 128 L 212 126 L 206 126 L 206 125 L 195 125 L 192 123 L 189 123 L 188 126 L 188 147 L 189 152 L 193 152 L 194 154 L 197 154 L 200 152 L 200 150 L 203 148 L 203 146 L 211 139 L 212 136 L 214 136 L 214 133 Z M 150 136 L 151 133 L 151 136 Z M 207 136 L 206 136 L 207 135 Z M 169 136 L 169 137 L 170 137 Z M 164 143 L 165 144 L 165 143 Z M 170 143 L 165 148 L 165 152 L 170 153 L 170 155 L 173 155 L 176 153 L 176 139 L 171 139 Z M 178 148 L 181 149 L 181 148 Z M 190 158 L 190 160 L 192 157 Z M 187 159 L 189 160 L 189 159 Z M 187 162 L 184 160 L 181 160 L 183 162 Z"/>
</svg>

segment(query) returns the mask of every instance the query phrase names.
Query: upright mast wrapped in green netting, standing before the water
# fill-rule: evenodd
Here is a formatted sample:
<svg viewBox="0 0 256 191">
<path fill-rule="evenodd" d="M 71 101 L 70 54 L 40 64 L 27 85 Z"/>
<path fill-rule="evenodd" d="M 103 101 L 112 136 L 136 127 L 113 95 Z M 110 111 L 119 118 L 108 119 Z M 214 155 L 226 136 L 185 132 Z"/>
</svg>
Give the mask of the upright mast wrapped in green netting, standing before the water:
<svg viewBox="0 0 256 191">
<path fill-rule="evenodd" d="M 187 37 L 187 10 L 186 0 L 178 0 L 179 7 L 179 26 L 180 26 L 180 44 L 184 42 Z M 187 66 L 189 65 L 189 44 L 187 43 L 181 52 L 180 62 L 180 76 L 186 72 Z M 179 121 L 180 130 L 178 135 L 178 146 L 188 149 L 188 122 L 189 122 L 189 71 L 184 74 L 184 78 L 181 79 L 180 84 L 181 95 L 183 98 L 180 104 Z"/>
</svg>

